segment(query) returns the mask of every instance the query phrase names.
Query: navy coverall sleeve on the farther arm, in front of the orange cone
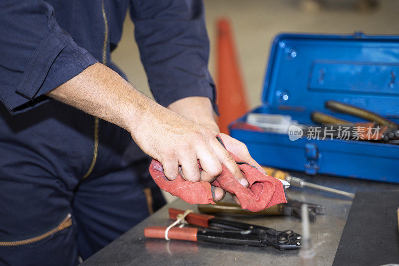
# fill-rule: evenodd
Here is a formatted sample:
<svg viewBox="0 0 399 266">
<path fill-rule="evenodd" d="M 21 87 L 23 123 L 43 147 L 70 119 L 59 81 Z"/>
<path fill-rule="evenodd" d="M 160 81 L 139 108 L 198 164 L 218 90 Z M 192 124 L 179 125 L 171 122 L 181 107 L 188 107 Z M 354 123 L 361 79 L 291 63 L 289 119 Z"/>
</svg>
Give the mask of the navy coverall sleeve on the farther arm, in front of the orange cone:
<svg viewBox="0 0 399 266">
<path fill-rule="evenodd" d="M 209 40 L 201 0 L 131 0 L 131 18 L 154 98 L 163 106 L 190 96 L 208 97 Z"/>
</svg>

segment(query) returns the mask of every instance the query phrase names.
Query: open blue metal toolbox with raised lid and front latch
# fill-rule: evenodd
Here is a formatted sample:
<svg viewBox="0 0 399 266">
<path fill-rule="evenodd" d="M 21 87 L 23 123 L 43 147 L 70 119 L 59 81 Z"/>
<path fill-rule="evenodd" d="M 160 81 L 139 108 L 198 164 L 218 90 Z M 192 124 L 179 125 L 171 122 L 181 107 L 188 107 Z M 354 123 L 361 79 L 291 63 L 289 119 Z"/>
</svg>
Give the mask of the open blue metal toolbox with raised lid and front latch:
<svg viewBox="0 0 399 266">
<path fill-rule="evenodd" d="M 399 36 L 312 35 L 275 37 L 263 86 L 262 105 L 250 113 L 290 115 L 314 124 L 318 110 L 348 121 L 363 119 L 329 111 L 336 100 L 399 122 Z M 344 139 L 290 140 L 288 134 L 229 125 L 230 135 L 244 142 L 260 164 L 308 174 L 399 183 L 399 145 Z"/>
</svg>

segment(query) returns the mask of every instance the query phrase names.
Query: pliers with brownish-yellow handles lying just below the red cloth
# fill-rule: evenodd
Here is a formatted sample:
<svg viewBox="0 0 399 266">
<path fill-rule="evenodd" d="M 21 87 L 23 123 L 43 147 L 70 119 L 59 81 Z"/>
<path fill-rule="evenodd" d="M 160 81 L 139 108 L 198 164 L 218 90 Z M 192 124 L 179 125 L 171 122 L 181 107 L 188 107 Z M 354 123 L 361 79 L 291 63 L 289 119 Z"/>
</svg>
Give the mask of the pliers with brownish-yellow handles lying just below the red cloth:
<svg viewBox="0 0 399 266">
<path fill-rule="evenodd" d="M 287 199 L 287 203 L 280 203 L 270 208 L 264 209 L 260 212 L 250 212 L 242 210 L 241 206 L 235 203 L 216 202 L 216 204 L 199 205 L 198 210 L 201 213 L 207 214 L 228 214 L 228 215 L 243 215 L 243 216 L 259 216 L 259 215 L 284 215 L 293 216 L 301 219 L 301 205 L 306 203 L 309 209 L 309 220 L 316 221 L 316 215 L 326 214 L 326 207 L 320 204 L 313 204 L 307 202 L 300 202 Z"/>
</svg>

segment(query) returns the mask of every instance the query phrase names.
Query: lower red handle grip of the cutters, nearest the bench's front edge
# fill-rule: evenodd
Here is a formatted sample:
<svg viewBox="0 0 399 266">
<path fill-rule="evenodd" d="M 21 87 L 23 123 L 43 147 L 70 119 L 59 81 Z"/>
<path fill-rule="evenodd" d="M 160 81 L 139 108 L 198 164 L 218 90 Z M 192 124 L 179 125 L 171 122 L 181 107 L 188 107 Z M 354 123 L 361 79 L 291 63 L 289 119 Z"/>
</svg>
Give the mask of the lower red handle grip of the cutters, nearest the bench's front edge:
<svg viewBox="0 0 399 266">
<path fill-rule="evenodd" d="M 144 236 L 146 238 L 165 238 L 164 226 L 149 226 L 144 229 Z M 172 227 L 168 232 L 168 238 L 178 240 L 197 241 L 197 228 L 192 227 Z"/>
</svg>

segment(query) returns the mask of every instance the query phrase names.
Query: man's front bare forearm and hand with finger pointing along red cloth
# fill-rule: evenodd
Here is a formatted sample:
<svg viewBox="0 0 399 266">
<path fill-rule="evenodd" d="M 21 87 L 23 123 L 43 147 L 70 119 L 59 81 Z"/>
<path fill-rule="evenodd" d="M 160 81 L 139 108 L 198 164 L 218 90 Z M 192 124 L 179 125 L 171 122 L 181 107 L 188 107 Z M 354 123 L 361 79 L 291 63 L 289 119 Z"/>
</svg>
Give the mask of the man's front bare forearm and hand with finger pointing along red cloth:
<svg viewBox="0 0 399 266">
<path fill-rule="evenodd" d="M 242 185 L 248 185 L 210 129 L 162 107 L 100 63 L 47 95 L 129 131 L 145 153 L 162 163 L 171 180 L 180 171 L 188 181 L 212 182 L 223 164 Z M 221 189 L 215 190 L 215 200 L 222 196 Z"/>
</svg>

